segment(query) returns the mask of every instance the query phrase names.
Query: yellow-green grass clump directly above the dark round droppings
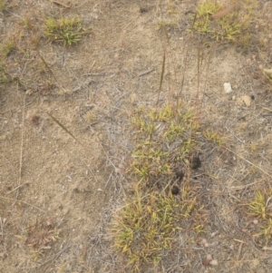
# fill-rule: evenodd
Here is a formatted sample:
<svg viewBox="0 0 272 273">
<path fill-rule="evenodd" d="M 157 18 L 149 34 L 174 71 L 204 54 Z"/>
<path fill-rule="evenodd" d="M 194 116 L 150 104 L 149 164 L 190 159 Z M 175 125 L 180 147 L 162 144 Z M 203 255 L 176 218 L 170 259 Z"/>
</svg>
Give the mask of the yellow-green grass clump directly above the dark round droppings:
<svg viewBox="0 0 272 273">
<path fill-rule="evenodd" d="M 160 176 L 170 175 L 175 164 L 187 164 L 197 149 L 199 124 L 193 112 L 181 103 L 166 103 L 159 111 L 138 109 L 132 116 L 136 129 L 136 148 L 132 151 L 131 172 L 145 186 Z"/>
</svg>

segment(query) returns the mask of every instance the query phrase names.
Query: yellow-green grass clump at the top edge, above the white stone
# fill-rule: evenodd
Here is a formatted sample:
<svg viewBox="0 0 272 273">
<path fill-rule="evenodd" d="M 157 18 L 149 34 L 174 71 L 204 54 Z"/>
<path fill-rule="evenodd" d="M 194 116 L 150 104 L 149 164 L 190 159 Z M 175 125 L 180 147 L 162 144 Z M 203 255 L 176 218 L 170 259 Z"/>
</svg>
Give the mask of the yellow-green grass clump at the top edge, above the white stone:
<svg viewBox="0 0 272 273">
<path fill-rule="evenodd" d="M 254 18 L 257 1 L 245 0 L 243 2 L 242 7 L 236 6 L 226 15 L 212 19 L 212 15 L 217 14 L 228 5 L 223 6 L 218 1 L 205 1 L 197 7 L 193 29 L 201 34 L 208 34 L 217 41 L 230 41 L 247 47 L 251 39 L 249 25 Z"/>
</svg>

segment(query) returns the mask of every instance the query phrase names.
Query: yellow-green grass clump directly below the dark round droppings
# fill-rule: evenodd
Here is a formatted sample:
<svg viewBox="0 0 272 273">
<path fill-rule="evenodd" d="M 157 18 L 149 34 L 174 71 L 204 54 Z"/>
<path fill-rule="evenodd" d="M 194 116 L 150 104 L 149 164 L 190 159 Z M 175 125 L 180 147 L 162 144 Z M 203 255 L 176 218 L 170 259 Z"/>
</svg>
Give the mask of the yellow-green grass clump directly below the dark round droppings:
<svg viewBox="0 0 272 273">
<path fill-rule="evenodd" d="M 139 271 L 144 262 L 158 265 L 163 251 L 174 249 L 175 235 L 188 222 L 196 202 L 189 187 L 182 190 L 181 200 L 171 193 L 151 193 L 141 198 L 138 192 L 137 198 L 119 212 L 112 228 L 115 248 L 126 255 L 127 266 Z M 190 221 L 186 229 L 198 232 L 202 227 Z"/>
</svg>

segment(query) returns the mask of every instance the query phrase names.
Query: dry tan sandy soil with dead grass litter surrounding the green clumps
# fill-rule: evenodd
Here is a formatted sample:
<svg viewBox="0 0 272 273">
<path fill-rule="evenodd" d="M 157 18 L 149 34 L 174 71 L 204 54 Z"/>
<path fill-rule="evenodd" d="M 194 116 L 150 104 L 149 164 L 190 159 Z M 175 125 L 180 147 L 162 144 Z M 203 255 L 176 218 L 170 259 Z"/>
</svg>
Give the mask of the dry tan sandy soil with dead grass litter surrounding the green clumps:
<svg viewBox="0 0 272 273">
<path fill-rule="evenodd" d="M 20 37 L 5 66 L 21 81 L 3 84 L 0 93 L 1 272 L 130 272 L 108 228 L 131 190 L 122 172 L 135 145 L 130 116 L 156 102 L 164 52 L 160 103 L 180 96 L 195 105 L 198 98 L 203 130 L 218 132 L 229 150 L 200 145 L 195 183 L 208 215 L 205 232 L 190 238 L 188 230 L 157 268 L 148 264 L 141 272 L 272 270 L 270 242 L 264 250 L 252 236 L 257 219 L 240 209 L 271 183 L 272 93 L 258 67 L 272 64 L 272 37 L 247 51 L 228 43 L 201 47 L 198 77 L 199 38 L 188 31 L 196 5 L 29 0 L 11 1 L 0 14 L 1 40 Z M 271 10 L 271 1 L 259 6 L 257 32 Z M 62 15 L 78 15 L 91 27 L 79 44 L 44 37 L 43 18 Z M 168 39 L 161 20 L 169 23 Z M 224 92 L 226 82 L 233 93 Z M 248 105 L 239 99 L 245 95 Z M 203 265 L 208 254 L 217 266 Z"/>
</svg>

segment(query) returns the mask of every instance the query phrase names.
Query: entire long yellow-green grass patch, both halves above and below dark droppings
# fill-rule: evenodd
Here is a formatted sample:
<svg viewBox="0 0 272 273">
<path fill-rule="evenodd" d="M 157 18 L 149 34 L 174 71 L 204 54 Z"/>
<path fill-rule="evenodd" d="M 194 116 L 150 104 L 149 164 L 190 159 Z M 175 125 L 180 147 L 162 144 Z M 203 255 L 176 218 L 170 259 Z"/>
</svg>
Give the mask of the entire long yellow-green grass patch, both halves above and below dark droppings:
<svg viewBox="0 0 272 273">
<path fill-rule="evenodd" d="M 137 186 L 118 211 L 112 235 L 128 267 L 139 271 L 146 262 L 156 266 L 165 251 L 174 249 L 177 232 L 197 234 L 206 219 L 198 190 L 189 180 L 178 187 L 178 196 L 171 193 L 177 166 L 189 173 L 189 160 L 198 149 L 199 123 L 193 110 L 182 102 L 166 102 L 157 108 L 139 108 L 131 121 L 136 144 L 128 175 Z"/>
</svg>

